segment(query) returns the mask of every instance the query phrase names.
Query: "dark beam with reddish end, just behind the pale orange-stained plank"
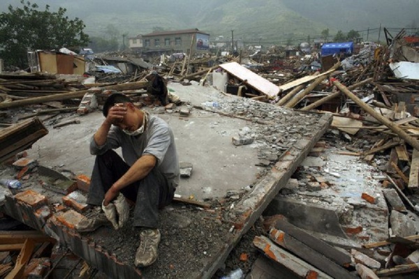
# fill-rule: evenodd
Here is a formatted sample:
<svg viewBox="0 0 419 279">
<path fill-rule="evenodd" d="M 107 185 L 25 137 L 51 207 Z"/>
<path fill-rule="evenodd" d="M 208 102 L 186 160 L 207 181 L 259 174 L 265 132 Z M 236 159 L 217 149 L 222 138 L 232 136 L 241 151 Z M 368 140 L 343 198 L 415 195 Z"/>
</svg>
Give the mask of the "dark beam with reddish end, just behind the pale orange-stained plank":
<svg viewBox="0 0 419 279">
<path fill-rule="evenodd" d="M 293 254 L 297 255 L 301 259 L 304 259 L 304 261 L 327 273 L 333 278 L 355 278 L 355 276 L 349 273 L 349 271 L 335 262 L 332 262 L 330 259 L 325 257 L 325 255 L 309 248 L 306 244 L 297 241 L 297 239 L 294 239 L 292 236 L 279 229 L 272 228 L 269 236 L 270 239 L 279 244 L 279 246 L 293 252 Z"/>
</svg>

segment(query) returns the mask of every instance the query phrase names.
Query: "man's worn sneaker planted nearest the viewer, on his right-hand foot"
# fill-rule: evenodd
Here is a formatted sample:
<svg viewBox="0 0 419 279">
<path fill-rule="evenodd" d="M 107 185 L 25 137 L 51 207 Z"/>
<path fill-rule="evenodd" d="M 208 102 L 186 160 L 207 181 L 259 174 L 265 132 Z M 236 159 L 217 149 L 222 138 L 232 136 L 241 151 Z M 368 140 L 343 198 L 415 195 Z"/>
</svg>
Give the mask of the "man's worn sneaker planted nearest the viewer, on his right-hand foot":
<svg viewBox="0 0 419 279">
<path fill-rule="evenodd" d="M 140 232 L 140 247 L 135 254 L 135 266 L 149 266 L 156 262 L 160 239 L 159 229 L 145 229 Z"/>
</svg>

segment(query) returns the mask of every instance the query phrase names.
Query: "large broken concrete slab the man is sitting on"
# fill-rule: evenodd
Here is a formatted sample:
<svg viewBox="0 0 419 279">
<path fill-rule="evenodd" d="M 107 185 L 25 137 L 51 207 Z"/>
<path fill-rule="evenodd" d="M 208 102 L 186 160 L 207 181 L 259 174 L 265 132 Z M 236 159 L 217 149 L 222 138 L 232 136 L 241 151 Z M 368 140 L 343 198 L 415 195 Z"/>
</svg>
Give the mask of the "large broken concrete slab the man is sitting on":
<svg viewBox="0 0 419 279">
<path fill-rule="evenodd" d="M 174 204 L 162 211 L 159 252 L 170 262 L 158 259 L 147 269 L 133 268 L 138 232 L 131 227 L 118 231 L 102 227 L 93 234 L 80 235 L 71 226 L 57 221 L 56 214 L 61 213 L 54 206 L 51 206 L 51 217 L 43 222 L 37 222 L 36 215 L 27 212 L 26 206 L 16 204 L 13 197 L 6 197 L 5 206 L 0 209 L 23 222 L 22 216 L 29 216 L 30 224 L 65 243 L 110 278 L 138 278 L 140 275 L 145 278 L 211 278 L 235 243 L 286 185 L 332 119 L 330 115 L 295 112 L 221 94 L 211 87 L 196 84 L 169 84 L 168 87 L 186 102 L 183 106 L 191 110 L 191 116 L 180 116 L 177 109 L 182 107 L 171 112 L 164 112 L 161 107 L 147 110 L 159 113 L 168 121 L 175 133 L 180 160 L 193 165 L 191 177 L 181 179 L 177 193 L 193 195 L 196 199 L 223 197 L 228 190 L 239 193 L 238 199 L 219 199 L 210 210 Z M 63 120 L 71 117 L 75 116 Z M 66 174 L 89 176 L 94 160 L 88 151 L 89 138 L 103 116 L 94 112 L 77 117 L 80 124 L 59 129 L 51 128 L 57 121 L 47 123 L 50 134 L 34 145 L 29 158 Z M 253 143 L 236 146 L 232 142 L 235 135 L 251 136 Z M 26 188 L 38 190 L 49 202 L 61 202 L 62 196 L 34 183 L 24 183 L 24 190 Z M 175 226 L 170 222 L 174 216 L 182 216 L 184 220 Z M 184 257 L 179 257 L 179 250 L 187 255 L 187 264 Z"/>
</svg>

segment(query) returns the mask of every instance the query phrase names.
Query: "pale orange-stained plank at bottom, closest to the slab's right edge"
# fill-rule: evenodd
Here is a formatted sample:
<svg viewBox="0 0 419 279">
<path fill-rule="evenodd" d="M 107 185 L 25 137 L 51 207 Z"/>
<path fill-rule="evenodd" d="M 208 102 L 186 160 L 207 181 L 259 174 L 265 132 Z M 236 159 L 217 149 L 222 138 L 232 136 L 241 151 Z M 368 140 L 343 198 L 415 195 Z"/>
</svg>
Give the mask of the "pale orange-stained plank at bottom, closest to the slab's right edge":
<svg viewBox="0 0 419 279">
<path fill-rule="evenodd" d="M 274 242 L 270 241 L 265 236 L 255 236 L 253 245 L 265 253 L 267 257 L 273 259 L 275 262 L 285 266 L 287 269 L 293 271 L 301 278 L 332 278 L 326 273 L 316 269 L 314 266 L 307 264 L 302 259 L 295 257 L 286 250 L 279 248 Z"/>
</svg>

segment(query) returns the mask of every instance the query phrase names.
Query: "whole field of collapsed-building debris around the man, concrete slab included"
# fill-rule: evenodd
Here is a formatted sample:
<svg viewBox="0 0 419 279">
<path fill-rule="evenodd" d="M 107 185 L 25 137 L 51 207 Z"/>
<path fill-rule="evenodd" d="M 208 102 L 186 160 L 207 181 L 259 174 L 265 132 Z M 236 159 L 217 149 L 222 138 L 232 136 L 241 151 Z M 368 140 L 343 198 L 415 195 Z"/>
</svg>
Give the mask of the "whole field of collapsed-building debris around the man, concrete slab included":
<svg viewBox="0 0 419 279">
<path fill-rule="evenodd" d="M 12 245 L 20 255 L 4 274 L 415 278 L 418 61 L 403 37 L 374 59 L 309 73 L 185 56 L 155 67 L 172 94 L 166 107 L 147 93 L 148 68 L 117 84 L 2 75 L 1 177 L 22 188 L 2 188 L 0 210 L 35 229 L 1 234 L 8 255 Z M 162 257 L 147 269 L 133 266 L 133 229 L 74 229 L 89 211 L 96 108 L 113 91 L 170 123 L 182 161 L 175 202 L 161 213 Z"/>
</svg>

